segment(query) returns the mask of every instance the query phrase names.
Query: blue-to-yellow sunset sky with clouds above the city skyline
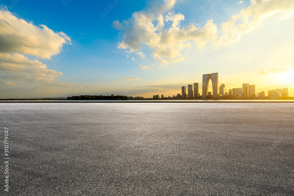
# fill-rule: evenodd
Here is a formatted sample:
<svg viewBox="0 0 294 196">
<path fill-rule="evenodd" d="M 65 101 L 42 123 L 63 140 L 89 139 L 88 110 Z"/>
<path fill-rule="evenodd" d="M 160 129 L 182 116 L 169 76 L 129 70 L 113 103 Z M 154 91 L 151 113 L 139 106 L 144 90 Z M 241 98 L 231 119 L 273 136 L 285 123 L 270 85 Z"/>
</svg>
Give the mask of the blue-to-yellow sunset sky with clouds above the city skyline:
<svg viewBox="0 0 294 196">
<path fill-rule="evenodd" d="M 2 0 L 0 98 L 202 94 L 216 72 L 294 96 L 293 24 L 290 0 Z"/>
</svg>

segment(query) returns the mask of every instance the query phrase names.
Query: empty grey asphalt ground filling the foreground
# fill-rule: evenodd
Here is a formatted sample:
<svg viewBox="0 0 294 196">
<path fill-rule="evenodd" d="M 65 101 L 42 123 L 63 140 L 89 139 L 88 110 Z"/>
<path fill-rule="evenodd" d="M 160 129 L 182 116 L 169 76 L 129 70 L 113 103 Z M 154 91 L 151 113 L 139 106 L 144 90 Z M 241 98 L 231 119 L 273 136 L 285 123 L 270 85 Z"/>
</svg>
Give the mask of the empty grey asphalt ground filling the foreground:
<svg viewBox="0 0 294 196">
<path fill-rule="evenodd" d="M 0 103 L 0 195 L 294 195 L 294 103 Z"/>
</svg>

